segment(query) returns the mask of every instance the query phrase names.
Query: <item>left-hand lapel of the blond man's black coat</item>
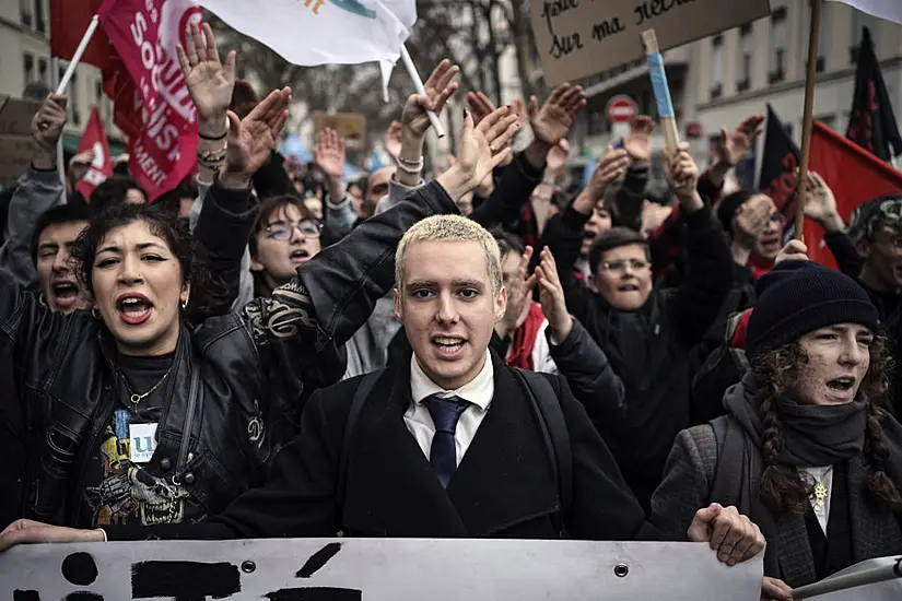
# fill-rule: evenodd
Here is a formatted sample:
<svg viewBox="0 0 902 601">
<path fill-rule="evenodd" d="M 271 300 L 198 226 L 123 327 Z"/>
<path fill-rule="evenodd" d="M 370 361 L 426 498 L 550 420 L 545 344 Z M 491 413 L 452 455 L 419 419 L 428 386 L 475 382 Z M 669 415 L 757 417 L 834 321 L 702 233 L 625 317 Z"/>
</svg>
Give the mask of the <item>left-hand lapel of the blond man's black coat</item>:
<svg viewBox="0 0 902 601">
<path fill-rule="evenodd" d="M 410 363 L 383 374 L 361 408 L 348 463 L 344 526 L 353 534 L 453 538 L 464 522 L 403 421 Z"/>
</svg>

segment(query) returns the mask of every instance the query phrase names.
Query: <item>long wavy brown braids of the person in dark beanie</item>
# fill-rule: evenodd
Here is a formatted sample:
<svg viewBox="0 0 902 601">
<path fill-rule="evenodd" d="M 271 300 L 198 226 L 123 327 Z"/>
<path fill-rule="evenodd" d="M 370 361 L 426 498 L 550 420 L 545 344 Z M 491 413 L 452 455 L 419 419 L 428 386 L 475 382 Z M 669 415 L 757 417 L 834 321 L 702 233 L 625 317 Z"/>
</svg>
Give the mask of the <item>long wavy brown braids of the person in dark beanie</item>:
<svg viewBox="0 0 902 601">
<path fill-rule="evenodd" d="M 815 483 L 796 469 L 776 463 L 783 450 L 783 424 L 776 410 L 776 401 L 787 394 L 808 363 L 808 354 L 798 342 L 784 344 L 761 356 L 752 365 L 752 374 L 760 382 L 761 416 L 764 433 L 761 452 L 764 473 L 759 488 L 761 499 L 775 512 L 805 514 Z M 889 377 L 892 360 L 887 341 L 875 337 L 870 344 L 870 365 L 862 381 L 859 393 L 867 398 L 867 425 L 865 428 L 865 459 L 869 466 L 866 487 L 872 500 L 891 511 L 902 512 L 902 495 L 886 472 L 890 457 L 880 423 L 889 415 L 883 409 L 889 397 Z"/>
</svg>

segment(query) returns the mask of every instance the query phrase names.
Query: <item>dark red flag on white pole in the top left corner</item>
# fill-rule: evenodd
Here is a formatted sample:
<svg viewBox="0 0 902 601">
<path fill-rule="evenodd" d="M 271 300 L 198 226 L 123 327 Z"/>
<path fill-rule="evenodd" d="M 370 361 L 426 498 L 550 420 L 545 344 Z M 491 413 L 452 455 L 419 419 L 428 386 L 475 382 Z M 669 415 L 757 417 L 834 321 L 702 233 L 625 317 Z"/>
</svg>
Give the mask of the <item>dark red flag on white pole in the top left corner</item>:
<svg viewBox="0 0 902 601">
<path fill-rule="evenodd" d="M 50 56 L 72 60 L 91 19 L 101 9 L 102 0 L 50 0 Z M 106 70 L 115 56 L 103 26 L 97 27 L 81 62 Z"/>
</svg>

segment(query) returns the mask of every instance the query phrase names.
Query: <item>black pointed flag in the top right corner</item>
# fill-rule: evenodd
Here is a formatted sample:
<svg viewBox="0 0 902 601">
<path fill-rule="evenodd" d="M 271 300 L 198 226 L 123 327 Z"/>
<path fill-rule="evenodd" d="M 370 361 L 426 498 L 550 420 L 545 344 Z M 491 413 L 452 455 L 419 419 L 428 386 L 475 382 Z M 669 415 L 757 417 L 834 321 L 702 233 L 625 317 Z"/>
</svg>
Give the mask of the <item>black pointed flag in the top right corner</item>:
<svg viewBox="0 0 902 601">
<path fill-rule="evenodd" d="M 855 97 L 846 138 L 883 161 L 902 154 L 902 135 L 892 114 L 883 73 L 874 51 L 870 32 L 864 27 L 855 71 Z"/>
</svg>

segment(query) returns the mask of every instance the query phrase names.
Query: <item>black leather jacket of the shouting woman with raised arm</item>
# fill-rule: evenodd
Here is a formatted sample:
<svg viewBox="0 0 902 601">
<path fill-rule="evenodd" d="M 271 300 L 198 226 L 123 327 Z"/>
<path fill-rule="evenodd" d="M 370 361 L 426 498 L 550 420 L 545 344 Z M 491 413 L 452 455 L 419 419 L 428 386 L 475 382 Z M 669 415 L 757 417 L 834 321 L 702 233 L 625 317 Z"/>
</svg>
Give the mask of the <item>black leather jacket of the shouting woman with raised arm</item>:
<svg viewBox="0 0 902 601">
<path fill-rule="evenodd" d="M 208 514 L 261 483 L 303 403 L 343 374 L 340 349 L 393 285 L 398 240 L 435 213 L 457 208 L 431 184 L 323 250 L 270 298 L 183 325 L 148 469 L 175 475 Z M 52 314 L 0 271 L 0 405 L 22 409 L 27 445 L 25 466 L 0 467 L 20 475 L 0 482 L 21 488 L 20 516 L 83 523 L 85 463 L 117 402 L 114 357 L 102 321 Z"/>
</svg>

